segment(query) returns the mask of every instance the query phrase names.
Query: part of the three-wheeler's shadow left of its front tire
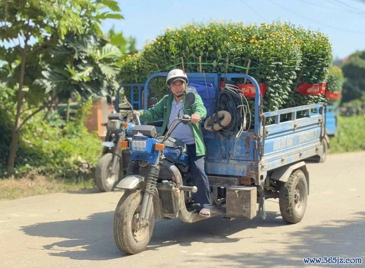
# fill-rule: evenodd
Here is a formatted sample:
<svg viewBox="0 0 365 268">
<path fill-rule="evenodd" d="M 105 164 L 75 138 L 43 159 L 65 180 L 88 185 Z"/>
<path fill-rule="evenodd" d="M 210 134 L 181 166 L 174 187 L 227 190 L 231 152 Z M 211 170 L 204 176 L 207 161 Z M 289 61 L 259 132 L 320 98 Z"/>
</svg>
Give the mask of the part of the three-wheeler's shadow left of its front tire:
<svg viewBox="0 0 365 268">
<path fill-rule="evenodd" d="M 41 222 L 22 226 L 32 236 L 55 237 L 53 243 L 43 245 L 52 256 L 71 259 L 113 259 L 120 257 L 112 234 L 114 211 L 91 214 L 87 219 Z M 59 239 L 58 239 L 59 238 Z"/>
</svg>

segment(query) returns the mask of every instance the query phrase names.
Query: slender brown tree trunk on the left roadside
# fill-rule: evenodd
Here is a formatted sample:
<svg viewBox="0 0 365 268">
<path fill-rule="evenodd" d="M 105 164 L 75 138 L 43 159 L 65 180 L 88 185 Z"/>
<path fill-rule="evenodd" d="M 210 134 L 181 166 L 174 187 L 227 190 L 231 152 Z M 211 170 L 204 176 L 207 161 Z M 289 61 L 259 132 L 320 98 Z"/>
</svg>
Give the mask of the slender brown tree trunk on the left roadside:
<svg viewBox="0 0 365 268">
<path fill-rule="evenodd" d="M 24 82 L 24 73 L 25 73 L 25 61 L 26 61 L 26 47 L 27 40 L 24 42 L 24 48 L 21 50 L 21 63 L 20 63 L 20 74 L 19 74 L 19 88 L 16 95 L 16 115 L 14 120 L 14 125 L 11 131 L 11 143 L 9 148 L 9 156 L 7 158 L 7 167 L 6 171 L 8 175 L 11 175 L 14 170 L 15 156 L 16 156 L 16 147 L 19 141 L 20 136 L 20 114 L 21 114 L 21 105 L 23 103 L 24 93 L 23 93 L 23 82 Z"/>
</svg>

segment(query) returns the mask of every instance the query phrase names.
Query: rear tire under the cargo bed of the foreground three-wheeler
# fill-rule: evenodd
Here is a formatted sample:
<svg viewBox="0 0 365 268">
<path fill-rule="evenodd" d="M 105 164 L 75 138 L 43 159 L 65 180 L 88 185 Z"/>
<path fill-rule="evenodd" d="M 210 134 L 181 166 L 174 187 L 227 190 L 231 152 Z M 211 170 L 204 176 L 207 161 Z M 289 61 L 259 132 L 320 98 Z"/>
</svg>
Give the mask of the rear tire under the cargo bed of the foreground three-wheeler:
<svg viewBox="0 0 365 268">
<path fill-rule="evenodd" d="M 303 171 L 294 171 L 280 186 L 279 207 L 282 219 L 297 223 L 304 216 L 308 197 L 308 187 Z"/>
</svg>

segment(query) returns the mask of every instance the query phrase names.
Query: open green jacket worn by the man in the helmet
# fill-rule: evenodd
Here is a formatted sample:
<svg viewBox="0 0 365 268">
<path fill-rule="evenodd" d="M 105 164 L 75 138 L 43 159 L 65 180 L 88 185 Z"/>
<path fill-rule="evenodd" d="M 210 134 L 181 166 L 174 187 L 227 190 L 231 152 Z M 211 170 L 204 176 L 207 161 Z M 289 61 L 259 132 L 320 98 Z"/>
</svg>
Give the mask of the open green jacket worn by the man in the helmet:
<svg viewBox="0 0 365 268">
<path fill-rule="evenodd" d="M 186 91 L 185 91 L 186 93 Z M 195 94 L 195 102 L 191 105 L 191 107 L 185 106 L 185 97 L 183 99 L 183 113 L 192 115 L 194 113 L 200 115 L 201 119 L 205 118 L 206 116 L 206 109 L 203 105 L 203 101 L 201 100 L 200 96 L 196 93 Z M 160 134 L 162 135 L 168 124 L 168 119 L 170 117 L 171 113 L 171 107 L 172 107 L 172 101 L 173 101 L 173 95 L 170 93 L 168 95 L 163 96 L 163 98 L 156 103 L 152 108 L 149 108 L 147 110 L 140 110 L 140 119 L 145 122 L 153 122 L 157 121 L 160 118 L 163 118 L 163 124 L 161 127 Z M 205 155 L 205 145 L 203 141 L 203 134 L 201 131 L 200 123 L 192 124 L 188 123 L 194 138 L 195 138 L 195 144 L 196 144 L 196 156 Z"/>
</svg>

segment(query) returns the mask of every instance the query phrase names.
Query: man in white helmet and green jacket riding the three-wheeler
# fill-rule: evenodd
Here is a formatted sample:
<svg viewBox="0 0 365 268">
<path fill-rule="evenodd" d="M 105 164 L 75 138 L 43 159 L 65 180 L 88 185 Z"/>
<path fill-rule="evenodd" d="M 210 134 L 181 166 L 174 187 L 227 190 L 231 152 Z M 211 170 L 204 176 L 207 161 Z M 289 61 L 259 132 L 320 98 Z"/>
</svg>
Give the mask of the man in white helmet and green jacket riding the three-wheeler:
<svg viewBox="0 0 365 268">
<path fill-rule="evenodd" d="M 195 94 L 194 104 L 189 107 L 184 105 L 187 83 L 188 79 L 185 72 L 179 69 L 171 70 L 166 77 L 166 85 L 170 89 L 170 93 L 152 108 L 133 112 L 146 122 L 156 121 L 162 117 L 161 134 L 165 133 L 178 115 L 190 115 L 191 123 L 178 124 L 172 131 L 171 137 L 186 144 L 192 182 L 198 189 L 193 195 L 194 201 L 200 204 L 199 215 L 210 217 L 209 182 L 204 171 L 205 145 L 199 123 L 200 119 L 206 116 L 206 109 L 198 94 Z"/>
</svg>

